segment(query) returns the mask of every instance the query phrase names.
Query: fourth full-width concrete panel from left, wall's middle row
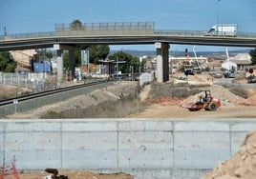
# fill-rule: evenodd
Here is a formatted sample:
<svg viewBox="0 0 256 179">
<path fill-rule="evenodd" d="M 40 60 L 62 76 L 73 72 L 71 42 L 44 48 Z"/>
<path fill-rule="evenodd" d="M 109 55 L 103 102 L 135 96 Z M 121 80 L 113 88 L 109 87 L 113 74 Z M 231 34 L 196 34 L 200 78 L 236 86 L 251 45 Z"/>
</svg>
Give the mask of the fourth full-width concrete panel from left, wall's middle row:
<svg viewBox="0 0 256 179">
<path fill-rule="evenodd" d="M 229 132 L 177 131 L 174 133 L 174 149 L 229 150 L 229 145 Z"/>
</svg>

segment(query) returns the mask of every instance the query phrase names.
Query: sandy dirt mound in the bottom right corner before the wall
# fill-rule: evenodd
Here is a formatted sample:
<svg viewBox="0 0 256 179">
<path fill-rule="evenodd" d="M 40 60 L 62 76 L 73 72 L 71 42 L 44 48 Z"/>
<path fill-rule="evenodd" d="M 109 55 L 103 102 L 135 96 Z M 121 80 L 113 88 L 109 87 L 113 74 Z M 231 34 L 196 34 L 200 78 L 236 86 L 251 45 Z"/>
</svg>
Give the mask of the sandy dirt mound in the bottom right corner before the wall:
<svg viewBox="0 0 256 179">
<path fill-rule="evenodd" d="M 247 134 L 244 143 L 233 156 L 203 177 L 203 179 L 235 178 L 256 178 L 256 132 Z"/>
</svg>

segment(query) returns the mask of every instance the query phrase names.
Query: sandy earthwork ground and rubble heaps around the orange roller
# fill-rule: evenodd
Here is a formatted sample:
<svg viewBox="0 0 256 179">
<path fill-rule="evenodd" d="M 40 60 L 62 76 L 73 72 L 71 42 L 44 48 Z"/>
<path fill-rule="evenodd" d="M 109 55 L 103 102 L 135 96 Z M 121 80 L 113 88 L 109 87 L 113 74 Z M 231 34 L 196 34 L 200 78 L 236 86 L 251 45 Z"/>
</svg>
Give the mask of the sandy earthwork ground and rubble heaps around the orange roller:
<svg viewBox="0 0 256 179">
<path fill-rule="evenodd" d="M 171 78 L 172 79 L 172 78 Z M 174 79 L 176 80 L 176 79 Z M 172 118 L 173 120 L 189 120 L 195 119 L 214 119 L 223 120 L 227 118 L 255 118 L 256 117 L 256 84 L 250 84 L 248 91 L 248 98 L 244 99 L 230 92 L 228 89 L 220 85 L 214 85 L 218 80 L 235 80 L 235 79 L 214 79 L 210 75 L 195 75 L 188 76 L 188 81 L 181 81 L 181 83 L 188 82 L 191 84 L 212 84 L 209 88 L 212 96 L 221 100 L 222 106 L 214 111 L 198 110 L 189 111 L 184 106 L 189 102 L 196 102 L 199 95 L 190 96 L 187 99 L 177 99 L 170 97 L 162 97 L 158 100 L 147 99 L 150 85 L 146 86 L 140 93 L 142 101 L 151 103 L 152 105 L 143 112 L 131 114 L 128 118 Z M 246 84 L 245 79 L 237 80 L 242 86 Z"/>
</svg>

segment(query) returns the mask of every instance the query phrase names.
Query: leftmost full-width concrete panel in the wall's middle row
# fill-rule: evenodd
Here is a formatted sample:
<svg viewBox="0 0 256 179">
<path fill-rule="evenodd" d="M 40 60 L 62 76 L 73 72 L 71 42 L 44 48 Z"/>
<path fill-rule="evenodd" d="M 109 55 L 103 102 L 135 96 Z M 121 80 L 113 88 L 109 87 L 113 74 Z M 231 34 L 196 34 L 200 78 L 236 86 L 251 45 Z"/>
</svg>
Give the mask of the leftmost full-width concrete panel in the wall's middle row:
<svg viewBox="0 0 256 179">
<path fill-rule="evenodd" d="M 59 132 L 9 132 L 5 136 L 6 151 L 60 150 Z"/>
</svg>

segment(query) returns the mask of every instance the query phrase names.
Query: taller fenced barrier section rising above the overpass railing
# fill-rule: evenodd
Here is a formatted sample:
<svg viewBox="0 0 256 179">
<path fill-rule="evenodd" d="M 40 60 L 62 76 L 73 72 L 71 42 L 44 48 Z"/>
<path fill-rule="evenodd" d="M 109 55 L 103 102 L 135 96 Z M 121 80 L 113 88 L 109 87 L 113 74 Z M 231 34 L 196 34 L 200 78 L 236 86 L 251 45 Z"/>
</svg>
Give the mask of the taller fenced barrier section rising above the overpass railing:
<svg viewBox="0 0 256 179">
<path fill-rule="evenodd" d="M 57 36 L 66 35 L 138 35 L 154 34 L 154 22 L 114 22 L 114 23 L 71 23 L 56 24 Z"/>
</svg>

